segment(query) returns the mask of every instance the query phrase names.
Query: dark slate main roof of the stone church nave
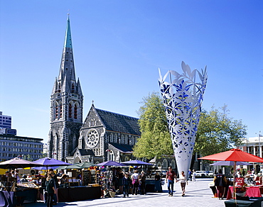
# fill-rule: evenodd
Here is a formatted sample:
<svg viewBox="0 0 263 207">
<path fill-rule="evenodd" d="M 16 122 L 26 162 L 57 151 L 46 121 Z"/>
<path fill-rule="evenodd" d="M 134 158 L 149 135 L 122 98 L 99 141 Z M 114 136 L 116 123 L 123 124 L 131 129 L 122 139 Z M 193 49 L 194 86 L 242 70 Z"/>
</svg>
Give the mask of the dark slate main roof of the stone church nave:
<svg viewBox="0 0 263 207">
<path fill-rule="evenodd" d="M 98 108 L 96 108 L 96 111 L 102 119 L 102 123 L 104 124 L 106 130 L 128 133 L 131 135 L 141 135 L 138 124 L 139 118 L 104 111 Z"/>
</svg>

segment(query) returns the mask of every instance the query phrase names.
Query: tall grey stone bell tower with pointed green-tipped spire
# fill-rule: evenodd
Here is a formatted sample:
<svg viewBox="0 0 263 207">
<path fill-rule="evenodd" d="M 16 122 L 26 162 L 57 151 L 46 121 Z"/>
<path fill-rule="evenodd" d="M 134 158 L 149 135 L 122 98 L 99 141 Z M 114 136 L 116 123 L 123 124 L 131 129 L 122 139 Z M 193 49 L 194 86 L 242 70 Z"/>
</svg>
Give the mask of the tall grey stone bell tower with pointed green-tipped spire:
<svg viewBox="0 0 263 207">
<path fill-rule="evenodd" d="M 80 80 L 75 79 L 73 45 L 68 16 L 65 43 L 58 78 L 50 96 L 50 132 L 48 157 L 65 161 L 77 147 L 82 125 L 83 95 Z"/>
</svg>

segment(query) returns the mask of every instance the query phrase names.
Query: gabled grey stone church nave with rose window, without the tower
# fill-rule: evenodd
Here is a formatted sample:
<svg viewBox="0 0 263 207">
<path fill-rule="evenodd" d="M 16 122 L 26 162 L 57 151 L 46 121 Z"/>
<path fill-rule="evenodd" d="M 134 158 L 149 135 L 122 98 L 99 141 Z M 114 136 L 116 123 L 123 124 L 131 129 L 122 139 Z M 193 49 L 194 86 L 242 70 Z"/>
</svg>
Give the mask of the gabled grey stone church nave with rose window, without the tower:
<svg viewBox="0 0 263 207">
<path fill-rule="evenodd" d="M 80 128 L 78 149 L 67 160 L 70 163 L 128 161 L 133 158 L 132 147 L 139 137 L 138 118 L 104 111 L 92 104 Z"/>
</svg>

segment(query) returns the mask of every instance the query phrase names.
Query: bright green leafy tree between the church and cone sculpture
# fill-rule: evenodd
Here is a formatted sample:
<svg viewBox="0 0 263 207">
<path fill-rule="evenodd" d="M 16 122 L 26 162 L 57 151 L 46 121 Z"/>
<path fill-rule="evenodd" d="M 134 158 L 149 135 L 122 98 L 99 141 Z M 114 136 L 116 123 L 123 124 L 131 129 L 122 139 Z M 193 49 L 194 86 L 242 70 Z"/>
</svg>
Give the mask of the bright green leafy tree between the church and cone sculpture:
<svg viewBox="0 0 263 207">
<path fill-rule="evenodd" d="M 173 155 L 171 138 L 166 121 L 163 101 L 158 93 L 153 92 L 144 97 L 143 106 L 137 111 L 141 138 L 134 146 L 135 157 L 161 157 Z"/>
</svg>

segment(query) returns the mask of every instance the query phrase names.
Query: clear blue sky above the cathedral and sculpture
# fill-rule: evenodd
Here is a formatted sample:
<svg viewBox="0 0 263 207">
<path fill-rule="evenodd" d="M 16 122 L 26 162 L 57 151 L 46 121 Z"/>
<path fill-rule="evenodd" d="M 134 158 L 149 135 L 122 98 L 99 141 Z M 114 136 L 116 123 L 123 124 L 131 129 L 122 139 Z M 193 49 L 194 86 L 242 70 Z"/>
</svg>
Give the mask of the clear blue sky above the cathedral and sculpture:
<svg viewBox="0 0 263 207">
<path fill-rule="evenodd" d="M 257 136 L 263 118 L 262 1 L 0 1 L 0 111 L 18 135 L 48 140 L 68 9 L 84 118 L 96 108 L 137 116 L 159 72 L 207 65 L 203 108 Z M 256 134 L 257 133 L 257 134 Z"/>
</svg>

